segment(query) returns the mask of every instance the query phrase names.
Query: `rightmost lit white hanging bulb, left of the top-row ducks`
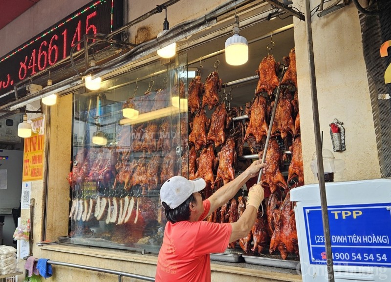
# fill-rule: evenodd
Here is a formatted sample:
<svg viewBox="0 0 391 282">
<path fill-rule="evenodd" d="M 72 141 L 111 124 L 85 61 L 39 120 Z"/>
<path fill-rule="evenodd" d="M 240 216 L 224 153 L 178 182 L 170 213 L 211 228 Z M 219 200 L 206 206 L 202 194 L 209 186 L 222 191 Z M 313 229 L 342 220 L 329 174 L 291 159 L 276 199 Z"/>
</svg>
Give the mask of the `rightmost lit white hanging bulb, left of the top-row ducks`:
<svg viewBox="0 0 391 282">
<path fill-rule="evenodd" d="M 235 11 L 232 36 L 225 41 L 225 61 L 230 65 L 242 65 L 248 60 L 247 40 L 239 35 L 239 17 Z"/>
</svg>

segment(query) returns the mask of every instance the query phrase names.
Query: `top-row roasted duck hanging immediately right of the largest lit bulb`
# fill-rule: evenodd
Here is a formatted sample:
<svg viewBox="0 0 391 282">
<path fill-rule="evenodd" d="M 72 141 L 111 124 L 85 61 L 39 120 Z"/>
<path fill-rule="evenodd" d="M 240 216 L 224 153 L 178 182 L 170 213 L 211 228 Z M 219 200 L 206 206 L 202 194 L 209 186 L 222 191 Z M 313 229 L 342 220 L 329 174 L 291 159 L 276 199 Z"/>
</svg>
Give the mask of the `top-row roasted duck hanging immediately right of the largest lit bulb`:
<svg viewBox="0 0 391 282">
<path fill-rule="evenodd" d="M 260 77 L 255 94 L 266 91 L 269 96 L 273 95 L 274 89 L 279 85 L 277 77 L 278 65 L 272 55 L 268 55 L 262 59 L 257 75 Z"/>
</svg>

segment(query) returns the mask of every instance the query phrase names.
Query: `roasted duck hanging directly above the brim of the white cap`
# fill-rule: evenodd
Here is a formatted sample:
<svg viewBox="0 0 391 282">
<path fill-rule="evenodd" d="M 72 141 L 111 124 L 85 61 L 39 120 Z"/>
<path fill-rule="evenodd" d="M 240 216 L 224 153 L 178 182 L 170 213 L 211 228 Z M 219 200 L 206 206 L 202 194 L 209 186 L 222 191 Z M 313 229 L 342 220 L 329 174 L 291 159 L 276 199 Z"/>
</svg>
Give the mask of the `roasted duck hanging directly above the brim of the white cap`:
<svg viewBox="0 0 391 282">
<path fill-rule="evenodd" d="M 207 186 L 211 189 L 215 187 L 215 177 L 213 175 L 213 168 L 217 164 L 217 158 L 215 156 L 215 150 L 213 145 L 209 145 L 208 148 L 203 148 L 199 158 L 197 159 L 197 172 L 195 178 L 203 178 Z M 210 185 L 208 185 L 210 184 Z"/>
</svg>

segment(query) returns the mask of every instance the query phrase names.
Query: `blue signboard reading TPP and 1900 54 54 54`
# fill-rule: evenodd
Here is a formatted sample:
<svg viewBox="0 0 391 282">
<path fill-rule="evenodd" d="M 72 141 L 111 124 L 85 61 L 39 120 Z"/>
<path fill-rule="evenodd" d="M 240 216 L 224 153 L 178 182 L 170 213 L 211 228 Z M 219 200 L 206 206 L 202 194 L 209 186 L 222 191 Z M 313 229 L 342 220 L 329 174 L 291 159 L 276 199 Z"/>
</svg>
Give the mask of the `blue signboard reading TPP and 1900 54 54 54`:
<svg viewBox="0 0 391 282">
<path fill-rule="evenodd" d="M 391 267 L 391 203 L 328 206 L 333 263 Z M 310 264 L 326 264 L 320 206 L 303 207 Z"/>
</svg>

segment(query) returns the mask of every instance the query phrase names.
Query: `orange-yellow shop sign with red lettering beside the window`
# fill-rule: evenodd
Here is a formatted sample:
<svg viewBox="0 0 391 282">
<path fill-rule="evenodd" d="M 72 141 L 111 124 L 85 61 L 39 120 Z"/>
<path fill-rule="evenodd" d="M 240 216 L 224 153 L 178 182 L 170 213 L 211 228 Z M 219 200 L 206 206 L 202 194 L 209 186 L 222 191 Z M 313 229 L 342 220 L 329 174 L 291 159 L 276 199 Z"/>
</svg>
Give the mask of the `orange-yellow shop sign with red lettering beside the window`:
<svg viewBox="0 0 391 282">
<path fill-rule="evenodd" d="M 27 122 L 31 124 L 32 134 L 24 139 L 22 180 L 42 180 L 45 116 Z"/>
</svg>

